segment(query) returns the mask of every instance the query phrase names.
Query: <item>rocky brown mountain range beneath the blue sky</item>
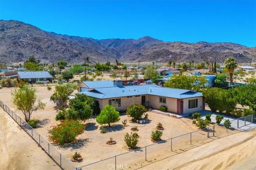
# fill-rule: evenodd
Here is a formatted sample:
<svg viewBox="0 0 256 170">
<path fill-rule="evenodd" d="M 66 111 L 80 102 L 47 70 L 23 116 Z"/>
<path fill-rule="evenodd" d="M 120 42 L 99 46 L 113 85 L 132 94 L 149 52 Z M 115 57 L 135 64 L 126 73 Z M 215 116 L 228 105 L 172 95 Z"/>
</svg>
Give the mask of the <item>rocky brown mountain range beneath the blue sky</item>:
<svg viewBox="0 0 256 170">
<path fill-rule="evenodd" d="M 59 35 L 19 21 L 0 20 L 0 61 L 21 62 L 35 55 L 43 62 L 66 60 L 90 62 L 158 61 L 184 62 L 209 60 L 223 62 L 233 56 L 238 62 L 256 60 L 256 47 L 233 43 L 164 42 L 151 37 L 140 39 L 102 39 Z"/>
</svg>

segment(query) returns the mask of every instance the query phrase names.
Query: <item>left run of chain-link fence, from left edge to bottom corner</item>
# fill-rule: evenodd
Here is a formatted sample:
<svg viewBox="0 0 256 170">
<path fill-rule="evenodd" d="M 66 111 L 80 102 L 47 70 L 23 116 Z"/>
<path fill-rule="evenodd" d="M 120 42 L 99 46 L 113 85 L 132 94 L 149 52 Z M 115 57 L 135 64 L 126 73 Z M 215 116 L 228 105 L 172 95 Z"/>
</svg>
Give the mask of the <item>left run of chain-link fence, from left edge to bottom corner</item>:
<svg viewBox="0 0 256 170">
<path fill-rule="evenodd" d="M 61 169 L 77 169 L 65 156 L 51 145 L 46 139 L 42 137 L 35 129 L 33 129 L 26 121 L 24 121 L 19 115 L 15 114 L 8 106 L 0 101 L 0 106 L 4 111 L 9 114 L 13 120 L 20 125 L 20 127 L 26 131 L 32 139 L 41 147 L 47 155 L 49 155 L 53 161 L 60 166 Z"/>
</svg>

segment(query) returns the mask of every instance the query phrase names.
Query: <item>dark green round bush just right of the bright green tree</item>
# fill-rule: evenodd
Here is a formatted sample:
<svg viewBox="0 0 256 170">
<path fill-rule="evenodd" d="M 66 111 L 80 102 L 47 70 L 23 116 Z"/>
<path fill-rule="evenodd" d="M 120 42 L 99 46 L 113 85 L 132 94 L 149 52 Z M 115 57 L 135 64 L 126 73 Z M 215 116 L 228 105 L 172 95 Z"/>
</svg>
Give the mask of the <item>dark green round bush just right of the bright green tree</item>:
<svg viewBox="0 0 256 170">
<path fill-rule="evenodd" d="M 133 117 L 134 120 L 139 120 L 147 109 L 141 104 L 132 104 L 127 108 L 126 114 Z"/>
</svg>

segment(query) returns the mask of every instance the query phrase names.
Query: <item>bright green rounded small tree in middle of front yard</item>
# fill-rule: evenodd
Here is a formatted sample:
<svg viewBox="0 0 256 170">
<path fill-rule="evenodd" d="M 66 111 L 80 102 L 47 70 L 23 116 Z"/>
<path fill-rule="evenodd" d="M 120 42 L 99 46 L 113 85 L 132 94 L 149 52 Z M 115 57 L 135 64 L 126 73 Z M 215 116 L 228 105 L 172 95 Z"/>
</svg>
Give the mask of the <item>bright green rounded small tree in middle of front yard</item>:
<svg viewBox="0 0 256 170">
<path fill-rule="evenodd" d="M 119 112 L 116 111 L 115 107 L 106 105 L 100 114 L 96 117 L 96 121 L 99 124 L 108 124 L 118 122 L 120 120 Z"/>
</svg>

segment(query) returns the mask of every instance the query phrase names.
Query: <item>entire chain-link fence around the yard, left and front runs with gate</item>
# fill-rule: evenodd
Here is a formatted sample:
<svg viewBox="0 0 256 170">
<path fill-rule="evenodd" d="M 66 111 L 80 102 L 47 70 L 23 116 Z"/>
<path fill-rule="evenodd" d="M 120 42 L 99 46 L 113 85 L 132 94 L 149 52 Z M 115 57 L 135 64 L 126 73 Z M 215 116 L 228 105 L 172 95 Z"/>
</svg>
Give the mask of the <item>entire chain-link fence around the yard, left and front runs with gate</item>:
<svg viewBox="0 0 256 170">
<path fill-rule="evenodd" d="M 98 169 L 138 169 L 147 164 L 157 162 L 158 160 L 170 157 L 189 149 L 204 145 L 215 139 L 226 137 L 230 134 L 238 133 L 234 128 L 250 125 L 252 123 L 252 115 L 238 118 L 230 121 L 231 127 L 225 127 L 222 124 L 210 125 L 205 129 L 189 132 L 170 139 L 162 140 L 151 145 L 133 149 L 120 155 L 109 157 L 98 162 L 87 164 L 81 167 L 75 167 L 67 158 L 55 149 L 51 143 L 45 140 L 36 130 L 31 128 L 26 121 L 22 120 L 9 107 L 0 101 L 0 106 L 8 113 L 15 122 L 17 122 L 23 130 L 25 130 L 31 138 L 49 155 L 55 163 L 62 169 L 76 170 L 98 170 Z"/>
</svg>

